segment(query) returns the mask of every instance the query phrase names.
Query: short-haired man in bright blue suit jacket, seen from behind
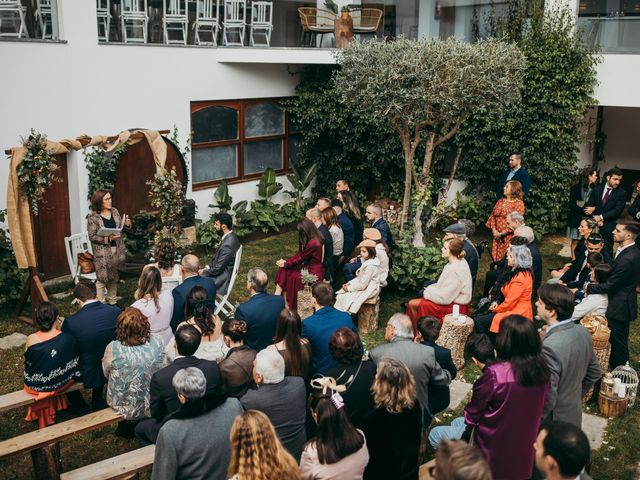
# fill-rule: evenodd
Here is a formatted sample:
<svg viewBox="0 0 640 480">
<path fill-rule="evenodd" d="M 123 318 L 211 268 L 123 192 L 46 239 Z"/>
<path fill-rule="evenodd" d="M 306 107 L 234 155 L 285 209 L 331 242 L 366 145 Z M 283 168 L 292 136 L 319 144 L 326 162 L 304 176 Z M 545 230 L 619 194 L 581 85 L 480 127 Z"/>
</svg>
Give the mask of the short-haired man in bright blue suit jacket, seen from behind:
<svg viewBox="0 0 640 480">
<path fill-rule="evenodd" d="M 316 283 L 311 289 L 315 312 L 302 322 L 302 336 L 311 343 L 311 374 L 324 374 L 336 364 L 329 352 L 329 339 L 336 330 L 347 327 L 358 335 L 348 313 L 336 310 L 333 303 L 333 288 L 328 283 Z"/>
</svg>

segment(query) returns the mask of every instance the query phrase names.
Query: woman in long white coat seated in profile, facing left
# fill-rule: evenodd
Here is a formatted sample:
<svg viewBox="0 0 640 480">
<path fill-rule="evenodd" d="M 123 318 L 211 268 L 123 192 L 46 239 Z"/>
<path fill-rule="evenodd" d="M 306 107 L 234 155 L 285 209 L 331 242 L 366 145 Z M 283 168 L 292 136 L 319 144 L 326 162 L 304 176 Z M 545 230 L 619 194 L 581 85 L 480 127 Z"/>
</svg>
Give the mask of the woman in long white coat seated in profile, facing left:
<svg viewBox="0 0 640 480">
<path fill-rule="evenodd" d="M 380 294 L 380 260 L 376 258 L 376 242 L 363 240 L 358 245 L 362 265 L 356 277 L 338 290 L 334 307 L 347 313 L 358 313 L 364 302 Z"/>
</svg>

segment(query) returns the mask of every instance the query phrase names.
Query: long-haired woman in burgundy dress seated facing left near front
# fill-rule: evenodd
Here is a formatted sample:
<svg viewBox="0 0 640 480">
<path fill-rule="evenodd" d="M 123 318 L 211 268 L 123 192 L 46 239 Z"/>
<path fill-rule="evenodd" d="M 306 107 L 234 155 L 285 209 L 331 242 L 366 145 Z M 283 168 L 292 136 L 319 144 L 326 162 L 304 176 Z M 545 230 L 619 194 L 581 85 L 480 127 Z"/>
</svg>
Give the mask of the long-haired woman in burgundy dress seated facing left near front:
<svg viewBox="0 0 640 480">
<path fill-rule="evenodd" d="M 296 311 L 298 292 L 302 290 L 300 271 L 306 268 L 309 273 L 316 275 L 318 280 L 324 278 L 322 258 L 324 253 L 324 238 L 313 222 L 303 219 L 296 226 L 298 230 L 298 253 L 286 260 L 276 262 L 276 295 L 284 291 L 284 299 L 291 310 Z"/>
</svg>

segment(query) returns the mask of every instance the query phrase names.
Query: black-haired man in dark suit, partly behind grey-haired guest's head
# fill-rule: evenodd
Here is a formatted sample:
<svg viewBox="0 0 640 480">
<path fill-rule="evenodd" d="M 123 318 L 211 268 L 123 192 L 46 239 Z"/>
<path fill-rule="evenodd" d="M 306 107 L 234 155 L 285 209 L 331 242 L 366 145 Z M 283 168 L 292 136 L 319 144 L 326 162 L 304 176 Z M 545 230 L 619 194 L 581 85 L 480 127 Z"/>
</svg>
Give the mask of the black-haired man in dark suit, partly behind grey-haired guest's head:
<svg viewBox="0 0 640 480">
<path fill-rule="evenodd" d="M 183 325 L 175 334 L 176 357 L 172 364 L 158 370 L 151 377 L 151 416 L 153 418 L 143 420 L 135 429 L 136 438 L 140 446 L 144 447 L 156 443 L 162 421 L 180 408 L 180 400 L 173 387 L 173 376 L 183 368 L 196 367 L 207 380 L 205 396 L 209 400 L 215 400 L 220 394 L 220 369 L 216 362 L 202 360 L 194 357 L 198 350 L 201 335 L 192 325 Z"/>
</svg>

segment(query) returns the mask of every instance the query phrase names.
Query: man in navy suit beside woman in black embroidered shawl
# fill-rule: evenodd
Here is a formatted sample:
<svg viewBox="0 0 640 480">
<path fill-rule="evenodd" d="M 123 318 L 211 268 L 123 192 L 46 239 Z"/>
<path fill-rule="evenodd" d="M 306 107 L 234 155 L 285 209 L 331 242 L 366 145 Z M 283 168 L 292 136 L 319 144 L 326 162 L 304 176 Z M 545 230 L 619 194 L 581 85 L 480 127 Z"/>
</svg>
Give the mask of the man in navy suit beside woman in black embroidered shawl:
<svg viewBox="0 0 640 480">
<path fill-rule="evenodd" d="M 102 357 L 107 345 L 116 339 L 116 322 L 122 310 L 100 302 L 95 283 L 88 280 L 78 282 L 73 296 L 80 310 L 65 319 L 62 331 L 78 342 L 82 383 L 85 389 L 92 389 L 91 409 L 95 411 L 106 406 L 102 399 L 102 388 L 107 383 L 102 373 Z M 74 406 L 84 405 L 79 392 L 69 393 L 69 399 Z"/>
</svg>

